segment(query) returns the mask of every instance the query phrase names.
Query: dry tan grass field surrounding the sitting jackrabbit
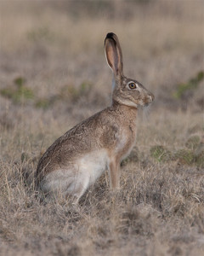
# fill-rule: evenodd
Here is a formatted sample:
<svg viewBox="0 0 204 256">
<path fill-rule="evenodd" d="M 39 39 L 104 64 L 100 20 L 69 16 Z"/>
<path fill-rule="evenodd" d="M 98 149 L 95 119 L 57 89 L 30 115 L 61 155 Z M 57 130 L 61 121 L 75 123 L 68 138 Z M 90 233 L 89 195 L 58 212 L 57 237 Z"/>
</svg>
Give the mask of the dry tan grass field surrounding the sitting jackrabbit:
<svg viewBox="0 0 204 256">
<path fill-rule="evenodd" d="M 86 4 L 0 2 L 0 254 L 203 255 L 203 81 L 173 97 L 203 68 L 203 2 Z M 105 173 L 77 207 L 60 195 L 40 201 L 39 155 L 110 104 L 111 31 L 127 75 L 156 95 L 150 114 L 139 113 L 122 189 L 111 192 Z M 156 146 L 165 158 L 151 154 Z"/>
</svg>

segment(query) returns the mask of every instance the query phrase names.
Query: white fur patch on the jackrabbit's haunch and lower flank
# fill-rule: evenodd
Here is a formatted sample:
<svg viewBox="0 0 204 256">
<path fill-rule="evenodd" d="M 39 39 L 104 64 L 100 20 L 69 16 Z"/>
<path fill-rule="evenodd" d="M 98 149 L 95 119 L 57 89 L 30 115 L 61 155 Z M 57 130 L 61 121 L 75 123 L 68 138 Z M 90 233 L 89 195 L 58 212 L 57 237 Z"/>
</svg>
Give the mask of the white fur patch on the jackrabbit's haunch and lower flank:
<svg viewBox="0 0 204 256">
<path fill-rule="evenodd" d="M 108 162 L 106 150 L 85 154 L 68 169 L 48 173 L 41 188 L 44 192 L 61 191 L 80 197 L 105 172 Z"/>
</svg>

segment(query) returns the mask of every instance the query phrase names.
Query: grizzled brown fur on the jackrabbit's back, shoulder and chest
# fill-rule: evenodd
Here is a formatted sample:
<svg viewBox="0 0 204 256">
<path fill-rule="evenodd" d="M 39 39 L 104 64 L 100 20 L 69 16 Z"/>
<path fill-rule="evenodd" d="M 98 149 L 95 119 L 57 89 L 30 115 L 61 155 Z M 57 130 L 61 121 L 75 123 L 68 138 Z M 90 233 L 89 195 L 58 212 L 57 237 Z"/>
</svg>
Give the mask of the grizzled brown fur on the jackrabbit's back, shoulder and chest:
<svg viewBox="0 0 204 256">
<path fill-rule="evenodd" d="M 111 107 L 105 108 L 67 131 L 42 155 L 37 166 L 38 182 L 48 172 L 68 166 L 82 154 L 98 148 L 107 148 L 111 158 L 116 158 L 117 161 L 122 160 L 122 156 L 128 153 L 128 149 L 132 148 L 135 141 L 136 115 L 136 108 L 128 108 L 115 102 Z M 124 116 L 125 126 L 121 125 L 124 122 Z M 122 133 L 127 135 L 126 146 L 115 152 Z M 93 140 L 92 137 L 99 137 L 99 141 Z"/>
</svg>

